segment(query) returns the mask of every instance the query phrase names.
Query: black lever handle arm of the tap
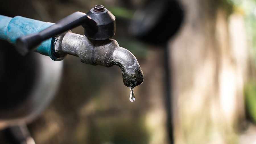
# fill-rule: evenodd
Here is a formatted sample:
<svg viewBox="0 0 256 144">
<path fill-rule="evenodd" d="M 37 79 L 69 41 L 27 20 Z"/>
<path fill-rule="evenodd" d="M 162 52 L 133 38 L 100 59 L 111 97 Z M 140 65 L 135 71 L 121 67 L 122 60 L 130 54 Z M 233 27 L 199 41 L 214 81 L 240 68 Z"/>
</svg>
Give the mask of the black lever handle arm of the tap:
<svg viewBox="0 0 256 144">
<path fill-rule="evenodd" d="M 16 40 L 16 48 L 20 54 L 26 55 L 36 46 L 38 46 L 42 41 L 80 25 L 82 25 L 84 29 L 92 34 L 97 32 L 97 23 L 92 20 L 90 16 L 82 12 L 75 12 L 59 20 L 45 30 L 35 34 L 19 37 Z"/>
</svg>

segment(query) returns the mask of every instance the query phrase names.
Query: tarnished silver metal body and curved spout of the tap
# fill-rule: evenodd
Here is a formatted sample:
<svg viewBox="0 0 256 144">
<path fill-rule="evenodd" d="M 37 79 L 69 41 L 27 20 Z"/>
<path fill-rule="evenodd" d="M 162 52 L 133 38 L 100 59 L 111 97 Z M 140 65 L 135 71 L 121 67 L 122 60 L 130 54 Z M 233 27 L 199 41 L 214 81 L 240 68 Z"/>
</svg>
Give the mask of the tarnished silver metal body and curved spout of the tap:
<svg viewBox="0 0 256 144">
<path fill-rule="evenodd" d="M 135 56 L 125 48 L 119 47 L 117 41 L 108 39 L 95 41 L 79 34 L 67 33 L 62 38 L 61 49 L 64 53 L 78 56 L 81 62 L 91 65 L 121 68 L 123 83 L 127 87 L 140 85 L 143 72 Z"/>
</svg>

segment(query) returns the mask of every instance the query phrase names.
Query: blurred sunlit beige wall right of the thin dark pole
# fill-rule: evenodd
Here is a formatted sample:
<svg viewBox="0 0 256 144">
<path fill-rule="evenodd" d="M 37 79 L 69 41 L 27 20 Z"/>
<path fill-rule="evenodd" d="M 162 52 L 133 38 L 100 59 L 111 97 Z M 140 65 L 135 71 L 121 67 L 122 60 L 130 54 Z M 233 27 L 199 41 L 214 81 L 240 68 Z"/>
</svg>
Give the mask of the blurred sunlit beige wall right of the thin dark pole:
<svg viewBox="0 0 256 144">
<path fill-rule="evenodd" d="M 227 1 L 180 2 L 185 19 L 169 43 L 174 141 L 238 143 L 248 72 L 243 16 Z"/>
</svg>

